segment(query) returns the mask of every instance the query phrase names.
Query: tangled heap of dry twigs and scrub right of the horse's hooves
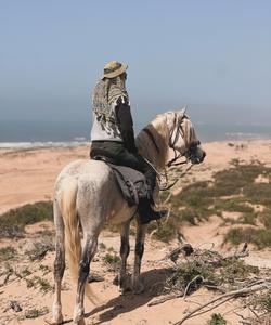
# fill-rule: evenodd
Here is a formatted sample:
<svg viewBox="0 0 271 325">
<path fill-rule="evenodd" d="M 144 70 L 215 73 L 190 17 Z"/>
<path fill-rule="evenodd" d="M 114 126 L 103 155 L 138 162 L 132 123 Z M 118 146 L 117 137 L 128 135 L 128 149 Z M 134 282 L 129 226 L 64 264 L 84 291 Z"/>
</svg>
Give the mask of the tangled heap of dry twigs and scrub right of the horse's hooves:
<svg viewBox="0 0 271 325">
<path fill-rule="evenodd" d="M 169 291 L 186 296 L 202 286 L 231 290 L 237 283 L 245 283 L 259 274 L 257 266 L 246 264 L 238 259 L 238 255 L 223 257 L 217 251 L 207 249 L 192 249 L 184 261 L 179 261 L 176 252 L 173 253 L 175 259 L 171 260 L 176 265 L 166 283 Z M 240 256 L 244 253 L 245 250 Z"/>
</svg>

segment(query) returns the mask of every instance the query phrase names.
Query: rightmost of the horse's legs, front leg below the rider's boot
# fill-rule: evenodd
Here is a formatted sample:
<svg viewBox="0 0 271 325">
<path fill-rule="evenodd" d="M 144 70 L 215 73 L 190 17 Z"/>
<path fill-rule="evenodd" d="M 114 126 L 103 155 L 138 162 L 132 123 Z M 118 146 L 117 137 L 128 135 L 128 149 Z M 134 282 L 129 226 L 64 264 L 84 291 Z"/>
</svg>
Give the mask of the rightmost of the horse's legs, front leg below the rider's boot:
<svg viewBox="0 0 271 325">
<path fill-rule="evenodd" d="M 144 285 L 140 281 L 140 268 L 141 260 L 144 252 L 144 240 L 146 224 L 141 224 L 139 219 L 137 219 L 137 238 L 136 238 L 136 257 L 134 257 L 134 266 L 132 274 L 132 289 L 134 294 L 141 294 L 144 290 Z"/>
</svg>

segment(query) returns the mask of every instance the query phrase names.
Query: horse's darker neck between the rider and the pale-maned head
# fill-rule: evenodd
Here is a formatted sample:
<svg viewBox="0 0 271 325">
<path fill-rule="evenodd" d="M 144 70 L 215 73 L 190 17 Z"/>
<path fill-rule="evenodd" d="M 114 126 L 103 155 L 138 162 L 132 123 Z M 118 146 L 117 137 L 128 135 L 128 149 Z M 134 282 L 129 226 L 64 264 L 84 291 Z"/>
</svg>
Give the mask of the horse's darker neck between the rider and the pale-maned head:
<svg viewBox="0 0 271 325">
<path fill-rule="evenodd" d="M 168 158 L 168 132 L 165 128 L 167 128 L 166 123 L 157 127 L 152 122 L 141 130 L 137 136 L 139 153 L 152 162 L 157 170 L 165 169 Z"/>
</svg>

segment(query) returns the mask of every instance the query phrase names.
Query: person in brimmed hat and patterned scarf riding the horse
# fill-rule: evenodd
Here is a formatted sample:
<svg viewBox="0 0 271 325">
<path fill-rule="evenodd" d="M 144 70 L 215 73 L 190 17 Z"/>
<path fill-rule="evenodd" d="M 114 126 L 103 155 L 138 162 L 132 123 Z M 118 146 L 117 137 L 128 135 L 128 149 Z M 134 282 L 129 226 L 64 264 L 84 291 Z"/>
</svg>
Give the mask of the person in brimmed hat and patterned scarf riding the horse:
<svg viewBox="0 0 271 325">
<path fill-rule="evenodd" d="M 105 156 L 116 165 L 141 171 L 153 193 L 156 173 L 139 155 L 134 142 L 130 102 L 126 90 L 127 68 L 126 64 L 111 61 L 104 66 L 104 74 L 94 88 L 90 157 Z M 142 223 L 158 220 L 166 213 L 155 211 L 153 205 L 153 199 L 140 199 L 139 214 Z"/>
</svg>

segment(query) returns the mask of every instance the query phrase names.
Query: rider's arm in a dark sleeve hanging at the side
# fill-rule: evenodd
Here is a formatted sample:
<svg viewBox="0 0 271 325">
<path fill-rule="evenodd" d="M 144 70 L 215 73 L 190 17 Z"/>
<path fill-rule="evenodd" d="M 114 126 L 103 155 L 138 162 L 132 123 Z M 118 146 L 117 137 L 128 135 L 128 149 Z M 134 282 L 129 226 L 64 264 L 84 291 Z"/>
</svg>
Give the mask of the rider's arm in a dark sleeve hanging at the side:
<svg viewBox="0 0 271 325">
<path fill-rule="evenodd" d="M 138 150 L 134 143 L 131 108 L 127 98 L 121 96 L 117 99 L 115 113 L 117 116 L 117 123 L 124 139 L 125 147 L 131 153 L 137 153 Z"/>
</svg>

